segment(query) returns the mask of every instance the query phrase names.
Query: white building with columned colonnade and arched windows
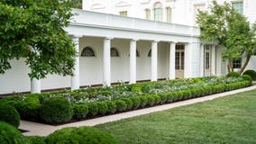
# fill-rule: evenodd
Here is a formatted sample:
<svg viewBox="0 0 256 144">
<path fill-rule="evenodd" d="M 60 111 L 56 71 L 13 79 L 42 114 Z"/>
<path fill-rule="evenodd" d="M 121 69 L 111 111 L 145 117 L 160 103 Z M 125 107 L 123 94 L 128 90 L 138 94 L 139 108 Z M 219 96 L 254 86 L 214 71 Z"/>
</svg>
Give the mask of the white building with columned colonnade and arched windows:
<svg viewBox="0 0 256 144">
<path fill-rule="evenodd" d="M 256 21 L 255 0 L 229 2 L 251 23 Z M 30 69 L 13 60 L 13 68 L 0 76 L 0 94 L 225 74 L 220 46 L 199 38 L 197 10 L 207 10 L 209 4 L 211 0 L 83 0 L 83 10 L 74 10 L 66 29 L 78 43 L 75 76 L 31 83 Z M 247 68 L 256 69 L 256 64 Z"/>
</svg>

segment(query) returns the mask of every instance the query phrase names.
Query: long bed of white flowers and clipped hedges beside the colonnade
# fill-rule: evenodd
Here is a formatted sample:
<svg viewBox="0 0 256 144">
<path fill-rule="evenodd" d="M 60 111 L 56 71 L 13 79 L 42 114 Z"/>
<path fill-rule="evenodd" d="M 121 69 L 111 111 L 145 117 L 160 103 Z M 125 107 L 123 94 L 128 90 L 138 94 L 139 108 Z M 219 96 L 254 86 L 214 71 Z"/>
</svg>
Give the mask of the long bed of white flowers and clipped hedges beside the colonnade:
<svg viewBox="0 0 256 144">
<path fill-rule="evenodd" d="M 13 105 L 24 120 L 42 121 L 41 105 L 48 102 L 52 97 L 62 99 L 64 97 L 72 106 L 73 118 L 85 119 L 222 93 L 249 85 L 251 85 L 251 80 L 248 76 L 207 76 L 133 85 L 88 87 L 72 92 L 59 91 L 48 94 L 18 95 L 6 97 L 0 102 Z M 66 102 L 63 103 L 58 104 L 70 106 Z"/>
</svg>

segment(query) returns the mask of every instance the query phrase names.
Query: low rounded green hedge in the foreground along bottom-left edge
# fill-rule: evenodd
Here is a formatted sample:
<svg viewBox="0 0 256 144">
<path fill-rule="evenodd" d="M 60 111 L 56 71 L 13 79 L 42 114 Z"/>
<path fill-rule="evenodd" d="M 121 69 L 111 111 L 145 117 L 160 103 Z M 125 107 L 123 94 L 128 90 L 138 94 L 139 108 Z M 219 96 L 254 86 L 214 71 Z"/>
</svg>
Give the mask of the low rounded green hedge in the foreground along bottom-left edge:
<svg viewBox="0 0 256 144">
<path fill-rule="evenodd" d="M 1 144 L 117 144 L 112 135 L 94 127 L 64 128 L 47 137 L 25 137 L 14 126 L 0 121 Z"/>
</svg>

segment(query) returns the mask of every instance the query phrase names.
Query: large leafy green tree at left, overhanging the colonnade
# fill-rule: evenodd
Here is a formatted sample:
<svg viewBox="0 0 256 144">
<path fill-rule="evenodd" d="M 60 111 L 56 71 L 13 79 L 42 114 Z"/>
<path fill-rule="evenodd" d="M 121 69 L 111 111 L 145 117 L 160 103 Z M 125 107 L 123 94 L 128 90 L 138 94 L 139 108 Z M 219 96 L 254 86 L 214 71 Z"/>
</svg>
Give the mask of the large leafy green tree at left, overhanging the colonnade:
<svg viewBox="0 0 256 144">
<path fill-rule="evenodd" d="M 69 0 L 1 0 L 0 74 L 10 60 L 25 59 L 29 76 L 72 75 L 76 50 L 64 30 L 72 16 Z"/>
</svg>

